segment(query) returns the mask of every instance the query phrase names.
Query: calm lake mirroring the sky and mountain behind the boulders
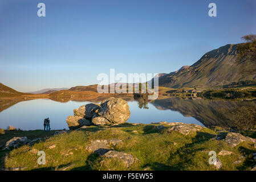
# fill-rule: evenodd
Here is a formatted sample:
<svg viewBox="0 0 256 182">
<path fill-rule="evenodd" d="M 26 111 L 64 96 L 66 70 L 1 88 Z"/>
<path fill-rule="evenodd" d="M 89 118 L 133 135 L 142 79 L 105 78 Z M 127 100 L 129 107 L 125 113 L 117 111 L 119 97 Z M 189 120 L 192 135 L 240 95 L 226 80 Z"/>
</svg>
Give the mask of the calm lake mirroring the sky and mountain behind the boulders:
<svg viewBox="0 0 256 182">
<path fill-rule="evenodd" d="M 43 129 L 44 118 L 49 117 L 51 129 L 68 129 L 66 118 L 73 109 L 88 101 L 56 102 L 50 99 L 22 101 L 2 110 L 0 128 L 13 125 L 22 130 Z M 256 101 L 184 100 L 166 98 L 153 102 L 128 101 L 130 123 L 183 122 L 212 127 L 244 129 L 255 127 Z"/>
</svg>

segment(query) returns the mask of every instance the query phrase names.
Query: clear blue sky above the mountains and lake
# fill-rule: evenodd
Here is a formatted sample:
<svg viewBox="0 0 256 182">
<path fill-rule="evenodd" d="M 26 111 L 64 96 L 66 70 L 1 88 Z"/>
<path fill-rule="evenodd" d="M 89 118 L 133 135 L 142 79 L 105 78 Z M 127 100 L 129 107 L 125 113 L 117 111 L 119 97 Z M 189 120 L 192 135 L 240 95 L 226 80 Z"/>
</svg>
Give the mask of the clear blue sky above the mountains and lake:
<svg viewBox="0 0 256 182">
<path fill-rule="evenodd" d="M 0 82 L 29 92 L 97 84 L 110 68 L 169 73 L 247 34 L 254 0 L 1 0 Z"/>
</svg>

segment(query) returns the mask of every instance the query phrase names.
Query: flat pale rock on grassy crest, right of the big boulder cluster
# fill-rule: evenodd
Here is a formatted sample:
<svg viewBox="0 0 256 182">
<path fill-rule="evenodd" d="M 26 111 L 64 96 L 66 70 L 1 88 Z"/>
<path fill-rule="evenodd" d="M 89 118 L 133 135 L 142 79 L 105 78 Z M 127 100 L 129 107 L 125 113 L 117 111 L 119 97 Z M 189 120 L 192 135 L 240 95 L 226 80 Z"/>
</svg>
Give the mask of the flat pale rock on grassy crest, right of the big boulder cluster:
<svg viewBox="0 0 256 182">
<path fill-rule="evenodd" d="M 181 134 L 188 135 L 192 132 L 200 131 L 202 129 L 202 126 L 196 125 L 196 124 L 186 124 L 186 123 L 177 123 L 176 125 L 173 125 L 168 130 L 170 131 L 178 131 Z"/>
</svg>

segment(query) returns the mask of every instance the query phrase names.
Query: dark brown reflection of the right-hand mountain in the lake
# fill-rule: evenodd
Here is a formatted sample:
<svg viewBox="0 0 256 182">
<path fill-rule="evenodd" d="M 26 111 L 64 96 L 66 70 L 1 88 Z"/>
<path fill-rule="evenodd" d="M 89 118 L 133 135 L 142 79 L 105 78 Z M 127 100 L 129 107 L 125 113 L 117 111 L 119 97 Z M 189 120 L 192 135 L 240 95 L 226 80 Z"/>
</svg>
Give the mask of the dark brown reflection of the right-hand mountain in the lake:
<svg viewBox="0 0 256 182">
<path fill-rule="evenodd" d="M 157 109 L 178 111 L 184 116 L 192 116 L 206 127 L 246 130 L 256 129 L 256 100 L 184 100 L 168 98 L 152 103 Z"/>
</svg>

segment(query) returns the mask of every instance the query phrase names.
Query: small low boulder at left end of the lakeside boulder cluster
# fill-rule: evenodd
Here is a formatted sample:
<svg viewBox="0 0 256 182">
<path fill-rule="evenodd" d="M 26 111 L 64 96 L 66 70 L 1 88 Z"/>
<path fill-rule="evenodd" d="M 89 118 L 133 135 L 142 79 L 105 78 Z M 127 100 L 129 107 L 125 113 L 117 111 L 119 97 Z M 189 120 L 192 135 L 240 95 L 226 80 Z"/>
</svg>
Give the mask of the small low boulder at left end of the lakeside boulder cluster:
<svg viewBox="0 0 256 182">
<path fill-rule="evenodd" d="M 68 124 L 68 127 L 71 130 L 77 129 L 82 126 L 91 126 L 92 125 L 90 120 L 83 118 L 83 117 L 79 117 L 77 115 L 69 115 L 66 119 L 66 122 Z"/>
</svg>

